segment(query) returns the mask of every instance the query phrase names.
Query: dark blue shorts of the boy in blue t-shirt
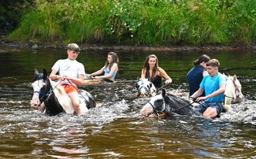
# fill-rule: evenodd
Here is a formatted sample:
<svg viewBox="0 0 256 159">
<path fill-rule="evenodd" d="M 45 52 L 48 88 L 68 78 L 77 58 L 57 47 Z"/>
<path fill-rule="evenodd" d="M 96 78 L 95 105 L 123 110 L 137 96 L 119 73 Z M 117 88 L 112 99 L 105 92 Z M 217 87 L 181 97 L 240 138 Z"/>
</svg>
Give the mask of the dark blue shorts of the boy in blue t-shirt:
<svg viewBox="0 0 256 159">
<path fill-rule="evenodd" d="M 216 108 L 217 116 L 219 116 L 220 113 L 225 112 L 224 106 L 221 102 L 202 102 L 202 104 L 198 106 L 199 113 L 204 113 L 208 107 Z"/>
</svg>

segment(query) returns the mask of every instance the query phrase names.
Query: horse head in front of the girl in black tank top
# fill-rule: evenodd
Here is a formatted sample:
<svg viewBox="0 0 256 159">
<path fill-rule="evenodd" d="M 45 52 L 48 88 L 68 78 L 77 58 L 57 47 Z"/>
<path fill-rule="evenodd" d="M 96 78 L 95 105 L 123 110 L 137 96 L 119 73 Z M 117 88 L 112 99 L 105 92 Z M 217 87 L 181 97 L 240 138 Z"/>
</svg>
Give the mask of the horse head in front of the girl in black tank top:
<svg viewBox="0 0 256 159">
<path fill-rule="evenodd" d="M 139 81 L 135 84 L 135 87 L 138 90 L 138 97 L 155 96 L 157 92 L 154 84 L 151 83 L 148 79 L 139 79 Z"/>
</svg>

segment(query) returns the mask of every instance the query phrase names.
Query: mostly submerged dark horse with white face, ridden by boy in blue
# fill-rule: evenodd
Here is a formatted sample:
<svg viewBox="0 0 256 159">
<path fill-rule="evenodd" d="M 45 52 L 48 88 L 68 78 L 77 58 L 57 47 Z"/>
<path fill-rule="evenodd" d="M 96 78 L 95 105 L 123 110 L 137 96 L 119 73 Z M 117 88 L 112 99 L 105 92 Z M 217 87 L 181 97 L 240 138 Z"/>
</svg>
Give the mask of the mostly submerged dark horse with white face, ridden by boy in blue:
<svg viewBox="0 0 256 159">
<path fill-rule="evenodd" d="M 201 113 L 193 109 L 191 105 L 189 100 L 174 94 L 166 94 L 165 89 L 162 89 L 161 94 L 154 96 L 143 106 L 140 114 L 146 117 L 165 117 L 171 113 L 201 116 Z"/>
</svg>

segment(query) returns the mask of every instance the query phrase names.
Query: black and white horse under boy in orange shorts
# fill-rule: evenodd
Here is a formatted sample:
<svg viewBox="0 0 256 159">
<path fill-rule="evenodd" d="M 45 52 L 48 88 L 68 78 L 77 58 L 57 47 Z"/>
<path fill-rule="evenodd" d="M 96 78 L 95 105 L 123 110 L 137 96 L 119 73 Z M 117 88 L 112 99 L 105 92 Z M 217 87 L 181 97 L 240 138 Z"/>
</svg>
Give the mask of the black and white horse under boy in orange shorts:
<svg viewBox="0 0 256 159">
<path fill-rule="evenodd" d="M 55 116 L 59 113 L 75 112 L 69 95 L 65 93 L 63 87 L 49 79 L 46 69 L 43 69 L 43 73 L 39 73 L 35 69 L 34 78 L 34 82 L 32 83 L 34 91 L 31 100 L 31 106 L 33 108 L 39 107 L 44 102 L 46 105 L 44 113 L 49 116 Z M 96 106 L 95 99 L 89 92 L 80 90 L 79 96 L 82 113 L 87 113 L 88 109 Z"/>
</svg>

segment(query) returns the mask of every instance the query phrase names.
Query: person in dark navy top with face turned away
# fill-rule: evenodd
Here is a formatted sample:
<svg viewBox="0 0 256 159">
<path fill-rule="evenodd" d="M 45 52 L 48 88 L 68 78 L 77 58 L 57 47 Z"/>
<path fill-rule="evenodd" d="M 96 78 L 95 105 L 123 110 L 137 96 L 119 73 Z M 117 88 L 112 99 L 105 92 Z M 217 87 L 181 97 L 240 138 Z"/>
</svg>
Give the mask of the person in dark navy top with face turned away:
<svg viewBox="0 0 256 159">
<path fill-rule="evenodd" d="M 189 96 L 198 91 L 199 84 L 202 81 L 202 78 L 208 75 L 206 71 L 206 63 L 210 60 L 210 57 L 206 54 L 202 54 L 197 60 L 193 61 L 194 68 L 187 73 L 187 82 L 189 85 Z M 205 92 L 200 95 L 200 97 L 205 96 Z"/>
</svg>

